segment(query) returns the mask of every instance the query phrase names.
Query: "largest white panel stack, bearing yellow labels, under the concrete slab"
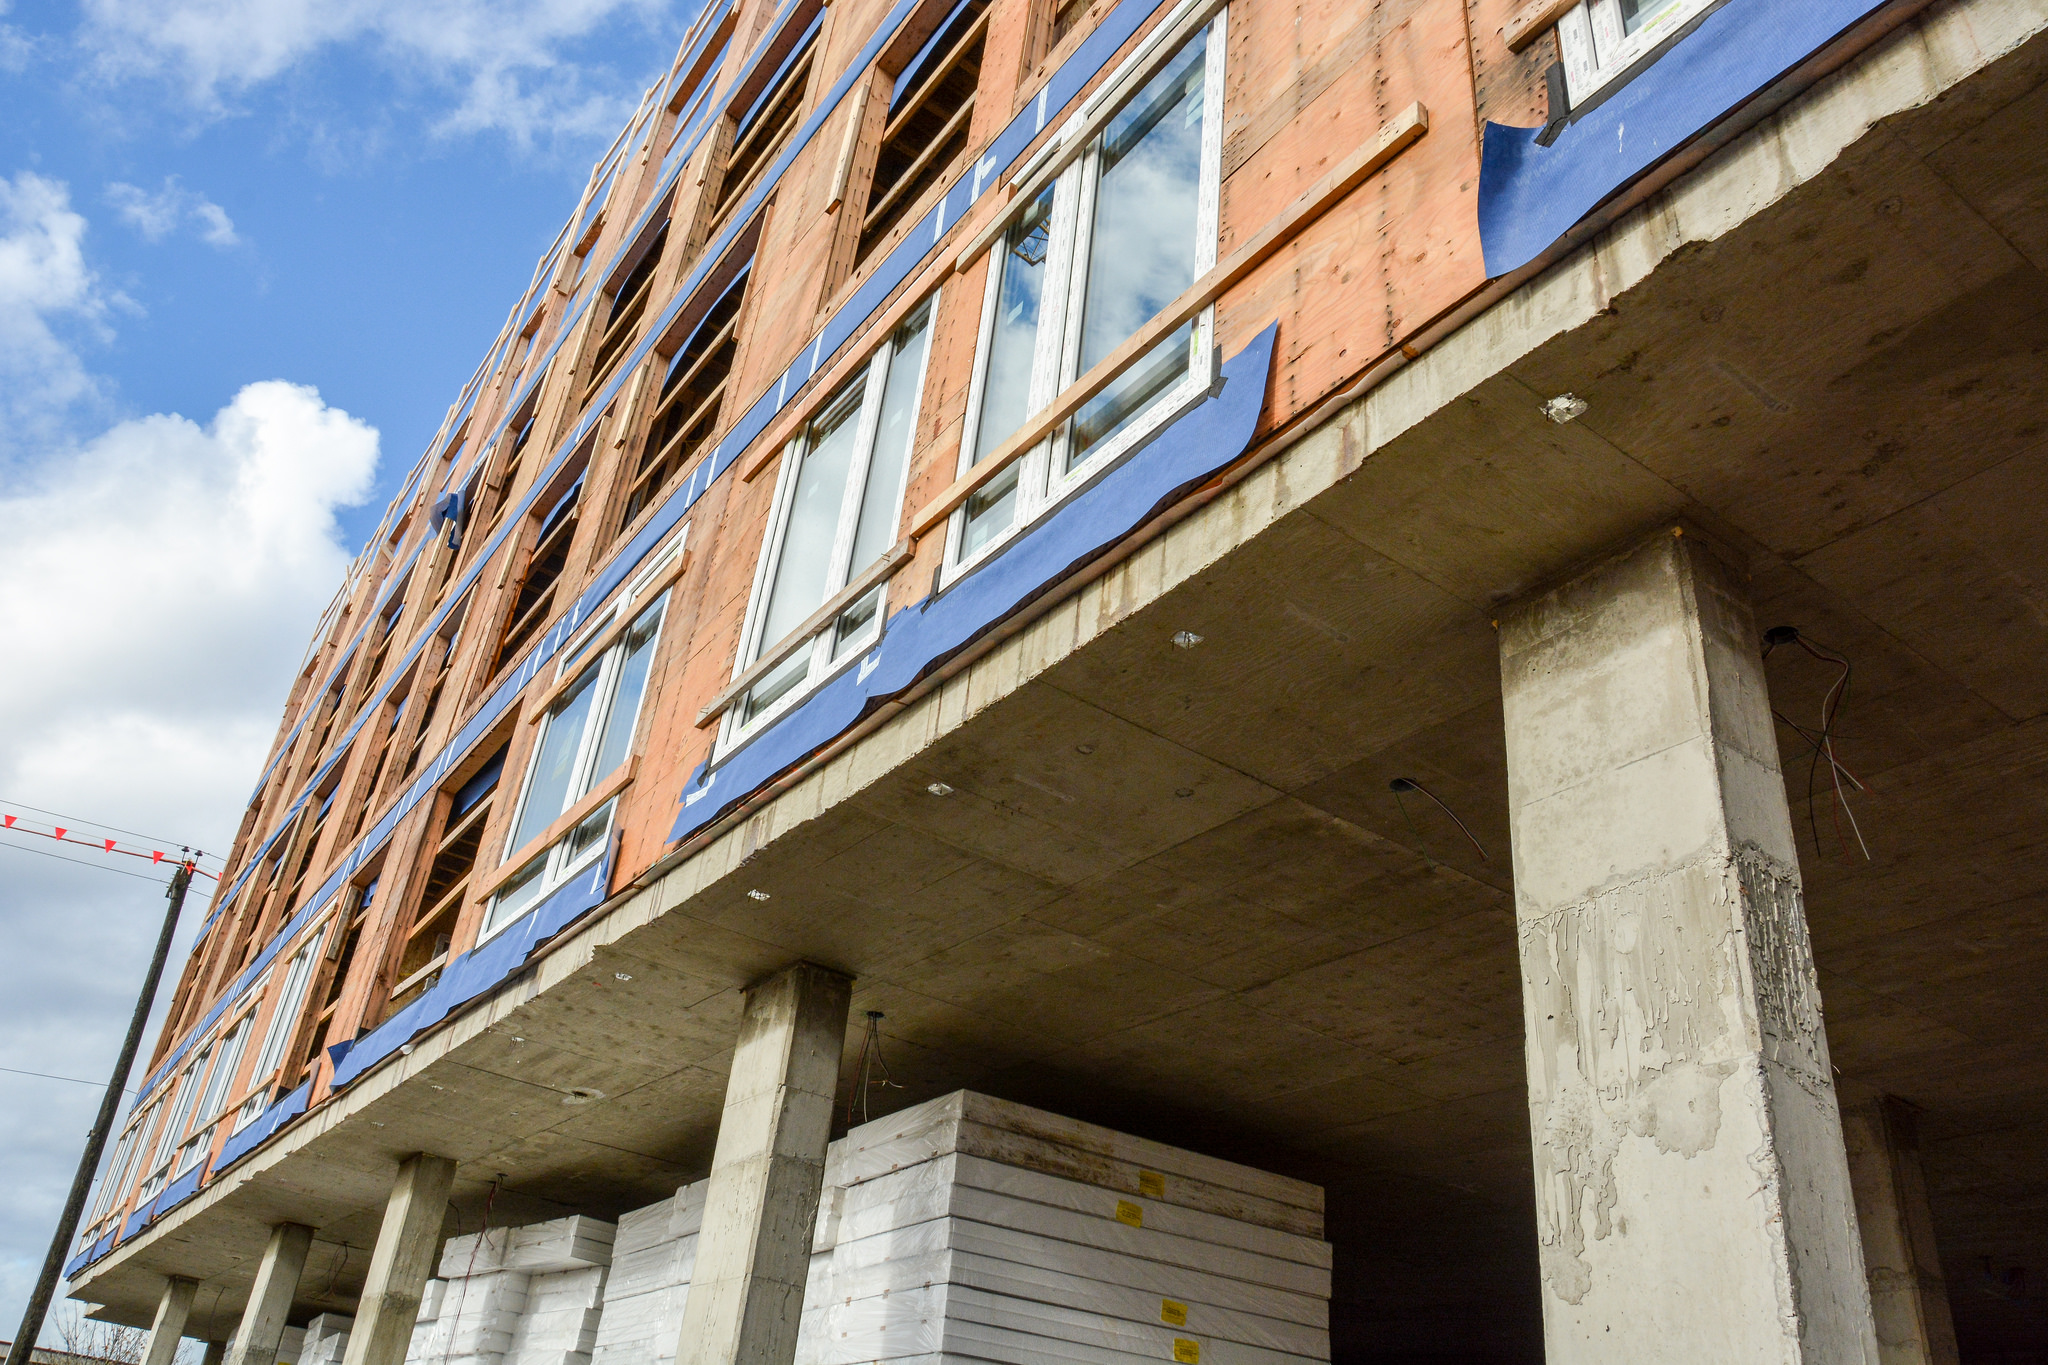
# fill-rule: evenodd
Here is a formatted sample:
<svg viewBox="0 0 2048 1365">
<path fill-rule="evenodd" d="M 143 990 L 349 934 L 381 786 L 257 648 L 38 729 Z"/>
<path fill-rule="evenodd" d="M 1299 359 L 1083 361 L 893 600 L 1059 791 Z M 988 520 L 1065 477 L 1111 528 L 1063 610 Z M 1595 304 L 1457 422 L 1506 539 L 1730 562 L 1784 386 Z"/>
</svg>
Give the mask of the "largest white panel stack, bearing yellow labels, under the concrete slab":
<svg viewBox="0 0 2048 1365">
<path fill-rule="evenodd" d="M 856 1128 L 825 1179 L 807 1365 L 1329 1359 L 1315 1185 L 967 1091 Z"/>
</svg>

